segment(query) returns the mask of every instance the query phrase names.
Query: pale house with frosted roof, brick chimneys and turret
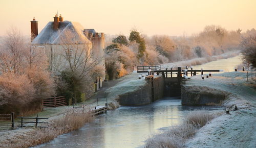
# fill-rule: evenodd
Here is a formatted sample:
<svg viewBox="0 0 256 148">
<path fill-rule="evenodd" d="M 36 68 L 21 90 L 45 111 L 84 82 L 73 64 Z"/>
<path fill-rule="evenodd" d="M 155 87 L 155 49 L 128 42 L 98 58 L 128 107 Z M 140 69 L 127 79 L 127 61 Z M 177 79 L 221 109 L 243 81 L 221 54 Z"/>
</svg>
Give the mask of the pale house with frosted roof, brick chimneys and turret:
<svg viewBox="0 0 256 148">
<path fill-rule="evenodd" d="M 38 22 L 35 18 L 31 21 L 31 44 L 47 54 L 50 70 L 57 73 L 68 66 L 66 59 L 61 56 L 61 54 L 67 54 L 63 49 L 61 37 L 65 37 L 66 31 L 72 30 L 74 40 L 77 41 L 76 44 L 82 47 L 86 43 L 93 54 L 93 59 L 101 59 L 99 66 L 102 66 L 102 72 L 104 73 L 104 33 L 97 33 L 94 29 L 83 29 L 78 22 L 63 21 L 61 15 L 59 17 L 55 15 L 53 18 L 54 21 L 49 21 L 39 34 Z M 72 56 L 72 52 L 69 54 Z M 101 87 L 103 80 L 104 78 L 95 80 L 96 91 Z"/>
</svg>

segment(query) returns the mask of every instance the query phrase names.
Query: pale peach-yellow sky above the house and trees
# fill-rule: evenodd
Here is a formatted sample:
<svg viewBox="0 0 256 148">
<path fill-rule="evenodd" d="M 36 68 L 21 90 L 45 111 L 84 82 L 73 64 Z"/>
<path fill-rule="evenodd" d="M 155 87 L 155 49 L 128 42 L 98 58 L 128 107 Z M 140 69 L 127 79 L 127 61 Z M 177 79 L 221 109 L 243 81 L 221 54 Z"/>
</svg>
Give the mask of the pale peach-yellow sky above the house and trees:
<svg viewBox="0 0 256 148">
<path fill-rule="evenodd" d="M 129 35 L 132 28 L 152 35 L 199 33 L 206 25 L 227 30 L 256 29 L 256 0 L 0 0 L 0 36 L 10 27 L 30 35 L 30 20 L 38 33 L 58 13 L 64 20 L 106 34 Z"/>
</svg>

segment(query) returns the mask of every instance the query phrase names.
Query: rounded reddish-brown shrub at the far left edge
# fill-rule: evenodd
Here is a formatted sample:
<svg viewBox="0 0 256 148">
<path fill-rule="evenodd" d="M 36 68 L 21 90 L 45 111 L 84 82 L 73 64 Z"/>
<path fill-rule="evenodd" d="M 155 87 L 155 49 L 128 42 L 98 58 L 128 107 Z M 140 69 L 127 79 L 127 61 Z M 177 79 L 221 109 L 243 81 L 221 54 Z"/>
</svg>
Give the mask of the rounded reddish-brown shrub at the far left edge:
<svg viewBox="0 0 256 148">
<path fill-rule="evenodd" d="M 35 92 L 26 75 L 4 73 L 0 77 L 0 113 L 23 113 L 24 107 L 29 107 L 29 103 L 35 101 Z"/>
</svg>

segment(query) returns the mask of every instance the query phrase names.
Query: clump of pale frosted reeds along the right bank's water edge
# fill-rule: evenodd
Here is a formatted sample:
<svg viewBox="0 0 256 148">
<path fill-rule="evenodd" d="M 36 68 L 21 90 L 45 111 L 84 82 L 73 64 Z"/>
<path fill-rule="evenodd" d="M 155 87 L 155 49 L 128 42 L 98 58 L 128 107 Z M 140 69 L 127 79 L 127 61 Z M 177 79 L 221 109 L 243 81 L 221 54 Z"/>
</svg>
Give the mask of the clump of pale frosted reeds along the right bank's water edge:
<svg viewBox="0 0 256 148">
<path fill-rule="evenodd" d="M 183 147 L 184 141 L 216 116 L 217 113 L 206 113 L 204 110 L 191 112 L 181 125 L 147 139 L 145 147 Z"/>
</svg>

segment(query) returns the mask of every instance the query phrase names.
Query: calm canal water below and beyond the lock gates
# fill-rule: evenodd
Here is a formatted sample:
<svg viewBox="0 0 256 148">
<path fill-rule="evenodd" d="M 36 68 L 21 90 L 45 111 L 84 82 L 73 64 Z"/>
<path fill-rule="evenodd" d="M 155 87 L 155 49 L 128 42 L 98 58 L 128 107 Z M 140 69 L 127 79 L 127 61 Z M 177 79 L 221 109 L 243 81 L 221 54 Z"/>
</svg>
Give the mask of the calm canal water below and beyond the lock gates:
<svg viewBox="0 0 256 148">
<path fill-rule="evenodd" d="M 194 66 L 193 69 L 203 67 L 227 72 L 241 63 L 241 56 L 237 56 Z M 150 105 L 121 106 L 99 115 L 79 130 L 59 135 L 37 147 L 144 147 L 144 141 L 150 135 L 181 124 L 188 113 L 201 109 L 207 112 L 224 110 L 216 106 L 182 106 L 181 100 L 175 97 L 163 98 Z"/>
</svg>

